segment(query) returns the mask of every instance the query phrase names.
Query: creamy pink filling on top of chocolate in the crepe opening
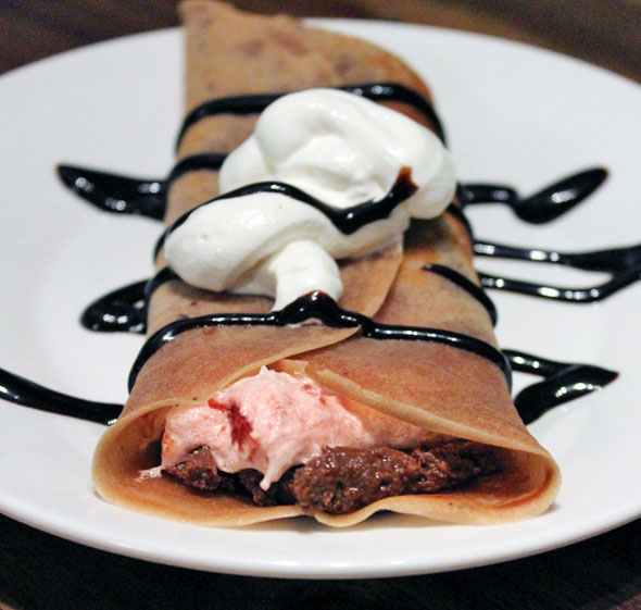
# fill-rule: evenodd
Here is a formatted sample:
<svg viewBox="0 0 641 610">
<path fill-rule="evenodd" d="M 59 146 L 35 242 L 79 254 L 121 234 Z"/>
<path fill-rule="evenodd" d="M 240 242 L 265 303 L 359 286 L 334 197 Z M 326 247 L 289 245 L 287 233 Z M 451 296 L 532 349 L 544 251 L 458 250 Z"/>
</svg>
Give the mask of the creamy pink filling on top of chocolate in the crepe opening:
<svg viewBox="0 0 641 610">
<path fill-rule="evenodd" d="M 343 397 L 324 391 L 306 377 L 263 366 L 214 394 L 204 404 L 174 407 L 166 418 L 162 465 L 175 465 L 205 445 L 219 470 L 255 469 L 261 487 L 320 453 L 324 446 L 412 447 L 425 431 Z"/>
</svg>

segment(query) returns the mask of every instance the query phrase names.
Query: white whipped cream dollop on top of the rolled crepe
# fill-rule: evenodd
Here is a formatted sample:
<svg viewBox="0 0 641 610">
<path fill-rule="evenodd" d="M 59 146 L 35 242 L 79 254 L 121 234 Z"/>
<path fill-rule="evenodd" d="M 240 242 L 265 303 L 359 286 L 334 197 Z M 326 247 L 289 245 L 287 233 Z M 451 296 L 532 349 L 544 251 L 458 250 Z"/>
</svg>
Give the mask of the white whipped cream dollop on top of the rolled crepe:
<svg viewBox="0 0 641 610">
<path fill-rule="evenodd" d="M 403 169 L 415 192 L 388 217 L 342 233 L 320 210 L 282 192 L 214 200 L 169 233 L 165 257 L 187 283 L 274 297 L 312 290 L 338 300 L 336 259 L 400 242 L 412 216 L 438 216 L 454 196 L 453 163 L 438 137 L 407 116 L 334 89 L 284 96 L 221 169 L 221 190 L 259 182 L 294 186 L 337 209 L 384 199 Z"/>
</svg>

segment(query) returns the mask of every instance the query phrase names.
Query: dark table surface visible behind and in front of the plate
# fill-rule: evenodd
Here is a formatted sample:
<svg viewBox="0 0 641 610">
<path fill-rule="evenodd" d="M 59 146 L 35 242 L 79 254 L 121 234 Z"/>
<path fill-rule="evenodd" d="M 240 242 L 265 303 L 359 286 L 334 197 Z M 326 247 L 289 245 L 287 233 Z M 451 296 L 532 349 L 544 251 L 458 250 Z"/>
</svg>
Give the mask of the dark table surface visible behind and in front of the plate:
<svg viewBox="0 0 641 610">
<path fill-rule="evenodd" d="M 503 36 L 641 82 L 641 0 L 247 0 L 299 15 L 392 18 Z M 175 0 L 3 0 L 0 73 L 97 40 L 177 25 Z M 322 5 L 320 5 L 322 4 Z M 503 564 L 377 581 L 281 581 L 90 549 L 0 515 L 0 609 L 641 609 L 641 520 Z"/>
</svg>

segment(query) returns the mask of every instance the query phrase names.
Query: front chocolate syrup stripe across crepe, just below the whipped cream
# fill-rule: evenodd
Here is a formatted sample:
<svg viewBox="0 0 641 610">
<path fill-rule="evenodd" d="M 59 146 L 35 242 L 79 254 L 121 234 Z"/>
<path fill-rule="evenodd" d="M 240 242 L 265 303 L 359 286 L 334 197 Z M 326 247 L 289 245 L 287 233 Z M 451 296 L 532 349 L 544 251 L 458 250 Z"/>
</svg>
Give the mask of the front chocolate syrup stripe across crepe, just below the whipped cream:
<svg viewBox="0 0 641 610">
<path fill-rule="evenodd" d="M 361 335 L 370 339 L 398 339 L 432 341 L 470 351 L 490 360 L 501 369 L 507 384 L 512 383 L 510 363 L 495 347 L 468 335 L 424 328 L 420 326 L 398 326 L 381 324 L 360 313 L 348 311 L 320 291 L 313 291 L 289 303 L 279 311 L 269 313 L 221 313 L 176 320 L 151 335 L 142 346 L 129 375 L 129 391 L 143 364 L 165 344 L 178 335 L 205 326 L 287 326 L 310 320 L 320 321 L 330 328 L 360 328 Z"/>
</svg>

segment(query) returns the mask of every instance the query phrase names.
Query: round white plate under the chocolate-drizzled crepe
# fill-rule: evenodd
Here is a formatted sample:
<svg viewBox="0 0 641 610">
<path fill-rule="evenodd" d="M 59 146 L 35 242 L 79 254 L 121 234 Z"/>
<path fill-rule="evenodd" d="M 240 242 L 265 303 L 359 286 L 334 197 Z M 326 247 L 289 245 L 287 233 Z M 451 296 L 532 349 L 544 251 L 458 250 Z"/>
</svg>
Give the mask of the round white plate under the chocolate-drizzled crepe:
<svg viewBox="0 0 641 610">
<path fill-rule="evenodd" d="M 588 202 L 550 225 L 526 225 L 508 210 L 474 210 L 479 236 L 566 250 L 639 239 L 641 96 L 632 83 L 489 37 L 322 23 L 378 41 L 418 69 L 433 88 L 464 179 L 506 180 L 527 191 L 589 165 L 612 170 Z M 160 227 L 97 212 L 59 184 L 53 166 L 71 161 L 164 175 L 180 117 L 180 35 L 166 30 L 65 53 L 0 78 L 0 366 L 71 395 L 125 400 L 142 338 L 92 334 L 77 318 L 95 297 L 150 274 Z M 488 265 L 479 260 L 479 266 Z M 557 270 L 548 271 L 558 283 Z M 574 274 L 567 281 L 598 279 Z M 587 307 L 495 295 L 503 346 L 621 373 L 606 389 L 531 426 L 564 474 L 558 500 L 539 519 L 469 527 L 382 515 L 349 531 L 303 519 L 244 530 L 162 521 L 93 494 L 89 466 L 100 425 L 5 402 L 0 509 L 114 552 L 254 575 L 415 574 L 567 545 L 641 513 L 639 296 L 639 284 Z"/>
</svg>

